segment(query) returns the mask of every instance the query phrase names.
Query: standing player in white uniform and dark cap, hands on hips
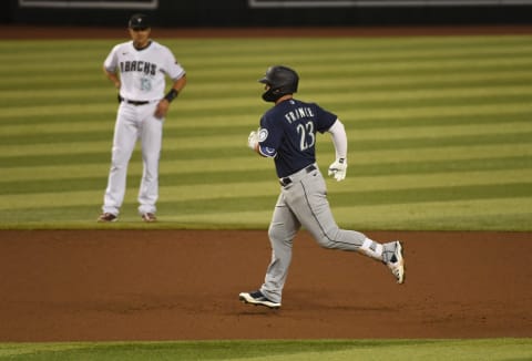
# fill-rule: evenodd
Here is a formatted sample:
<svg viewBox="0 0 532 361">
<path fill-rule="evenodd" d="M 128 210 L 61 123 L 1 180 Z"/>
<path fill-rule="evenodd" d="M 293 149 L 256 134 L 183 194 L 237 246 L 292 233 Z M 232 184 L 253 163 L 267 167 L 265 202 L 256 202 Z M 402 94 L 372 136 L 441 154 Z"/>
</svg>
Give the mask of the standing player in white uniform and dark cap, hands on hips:
<svg viewBox="0 0 532 361">
<path fill-rule="evenodd" d="M 170 103 L 186 84 L 185 70 L 173 53 L 150 38 L 150 21 L 145 14 L 131 17 L 129 32 L 132 40 L 115 45 L 103 63 L 106 76 L 119 90 L 120 106 L 103 213 L 98 221 L 115 221 L 119 217 L 125 194 L 127 164 L 137 140 L 142 143 L 144 166 L 139 214 L 144 221 L 156 220 L 164 117 Z M 173 84 L 165 94 L 166 76 L 172 79 Z"/>
</svg>

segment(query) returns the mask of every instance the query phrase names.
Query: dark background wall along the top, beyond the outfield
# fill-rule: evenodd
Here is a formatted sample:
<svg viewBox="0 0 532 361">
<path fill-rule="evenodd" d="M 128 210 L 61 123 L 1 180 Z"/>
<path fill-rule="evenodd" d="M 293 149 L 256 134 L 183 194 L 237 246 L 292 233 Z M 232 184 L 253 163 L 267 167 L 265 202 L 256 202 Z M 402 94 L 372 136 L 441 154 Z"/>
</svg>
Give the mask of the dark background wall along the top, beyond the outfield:
<svg viewBox="0 0 532 361">
<path fill-rule="evenodd" d="M 155 8 L 143 8 L 153 2 Z M 8 0 L 0 22 L 123 27 L 130 14 L 144 12 L 153 14 L 154 25 L 167 28 L 532 23 L 532 0 L 413 2 L 366 0 L 327 7 L 327 0 Z"/>
</svg>

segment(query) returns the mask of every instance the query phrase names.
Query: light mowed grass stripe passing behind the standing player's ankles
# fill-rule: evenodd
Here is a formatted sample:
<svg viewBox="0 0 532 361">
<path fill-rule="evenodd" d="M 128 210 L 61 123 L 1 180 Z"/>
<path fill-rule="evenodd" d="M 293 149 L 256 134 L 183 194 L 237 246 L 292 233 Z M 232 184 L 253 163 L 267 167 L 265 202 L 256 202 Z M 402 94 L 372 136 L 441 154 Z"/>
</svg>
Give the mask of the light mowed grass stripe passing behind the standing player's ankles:
<svg viewBox="0 0 532 361">
<path fill-rule="evenodd" d="M 378 205 L 408 205 L 423 203 L 452 203 L 464 200 L 488 200 L 488 199 L 532 199 L 532 183 L 511 183 L 497 185 L 463 185 L 463 186 L 440 186 L 426 187 L 419 189 L 388 189 L 375 192 L 349 192 L 329 197 L 332 207 L 356 207 L 359 206 L 378 206 Z M 127 208 L 134 208 L 136 202 L 130 196 L 125 202 Z M 95 192 L 65 192 L 57 195 L 57 200 L 45 203 L 42 208 L 63 208 L 68 210 L 71 207 L 94 207 L 101 206 L 103 193 L 99 197 L 94 197 Z M 10 202 L 13 197 L 6 197 L 7 203 L 0 205 L 0 209 L 11 210 L 13 213 L 28 212 L 32 207 L 39 206 L 37 200 L 47 199 L 47 194 L 38 194 L 31 198 L 20 200 L 18 206 L 13 206 Z M 244 195 L 236 193 L 233 196 L 208 197 L 202 199 L 177 198 L 161 199 L 158 207 L 161 209 L 174 209 L 176 212 L 185 212 L 187 214 L 217 214 L 225 212 L 254 212 L 273 209 L 275 205 L 275 195 Z M 25 202 L 24 202 L 25 200 Z M 84 202 L 83 202 L 84 200 Z M 200 202 L 201 200 L 201 202 Z M 23 204 L 25 203 L 25 206 Z M 530 209 L 528 210 L 530 213 Z M 503 212 L 501 212 L 503 213 Z M 74 215 L 65 215 L 64 218 L 72 217 L 79 219 Z"/>
</svg>

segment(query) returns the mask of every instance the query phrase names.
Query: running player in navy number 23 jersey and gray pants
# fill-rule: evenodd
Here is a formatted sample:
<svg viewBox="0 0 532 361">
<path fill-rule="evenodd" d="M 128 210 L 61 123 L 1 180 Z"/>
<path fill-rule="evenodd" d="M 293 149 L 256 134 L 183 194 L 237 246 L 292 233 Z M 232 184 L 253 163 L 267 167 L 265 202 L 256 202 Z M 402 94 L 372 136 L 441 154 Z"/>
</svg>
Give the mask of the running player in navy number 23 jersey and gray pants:
<svg viewBox="0 0 532 361">
<path fill-rule="evenodd" d="M 402 283 L 401 244 L 379 244 L 361 233 L 340 229 L 330 212 L 325 179 L 316 164 L 316 134 L 331 134 L 336 161 L 328 174 L 340 182 L 347 171 L 347 135 L 342 123 L 316 103 L 293 97 L 299 76 L 287 66 L 269 68 L 259 82 L 265 84 L 263 99 L 275 106 L 260 118 L 258 132 L 249 134 L 248 146 L 264 157 L 274 158 L 282 188 L 268 229 L 273 252 L 265 281 L 256 291 L 242 292 L 241 301 L 280 307 L 293 239 L 301 226 L 324 248 L 358 251 L 383 262 L 397 282 Z"/>
</svg>

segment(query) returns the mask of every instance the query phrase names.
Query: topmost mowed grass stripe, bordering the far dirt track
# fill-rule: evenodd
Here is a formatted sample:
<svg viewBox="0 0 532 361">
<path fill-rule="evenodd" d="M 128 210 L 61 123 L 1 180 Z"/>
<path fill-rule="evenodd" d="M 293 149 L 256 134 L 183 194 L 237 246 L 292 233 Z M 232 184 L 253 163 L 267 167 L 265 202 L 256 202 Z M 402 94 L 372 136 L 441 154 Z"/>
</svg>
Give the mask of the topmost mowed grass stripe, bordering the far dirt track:
<svg viewBox="0 0 532 361">
<path fill-rule="evenodd" d="M 34 59 L 42 56 L 48 64 L 51 60 L 66 59 L 69 61 L 81 58 L 88 59 L 94 52 L 106 54 L 119 41 L 124 38 L 111 40 L 83 40 L 83 41 L 1 41 L 0 54 L 2 61 L 9 63 L 25 62 L 31 64 Z M 164 39 L 164 44 L 174 49 L 177 58 L 197 58 L 206 64 L 224 59 L 243 59 L 244 62 L 260 60 L 262 56 L 284 50 L 285 53 L 301 54 L 304 56 L 316 54 L 316 47 L 324 45 L 332 54 L 357 56 L 358 60 L 371 59 L 375 54 L 388 54 L 396 58 L 408 56 L 415 53 L 419 56 L 441 56 L 449 54 L 460 58 L 474 54 L 493 55 L 499 53 L 526 53 L 530 52 L 530 35 L 490 35 L 490 37 L 422 37 L 422 38 L 286 38 L 280 39 Z M 466 47 L 467 45 L 467 47 Z M 186 50 L 186 51 L 183 51 Z M 246 50 L 246 51 L 244 51 Z M 227 54 L 219 56 L 219 54 Z M 180 56 L 180 54 L 182 54 Z M 351 55 L 352 54 L 352 55 Z M 217 56 L 216 56 L 217 55 Z M 242 58 L 238 58 L 242 56 Z M 217 58 L 221 58 L 217 60 Z"/>
</svg>

